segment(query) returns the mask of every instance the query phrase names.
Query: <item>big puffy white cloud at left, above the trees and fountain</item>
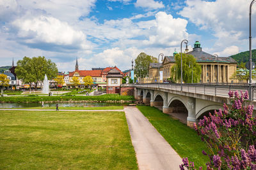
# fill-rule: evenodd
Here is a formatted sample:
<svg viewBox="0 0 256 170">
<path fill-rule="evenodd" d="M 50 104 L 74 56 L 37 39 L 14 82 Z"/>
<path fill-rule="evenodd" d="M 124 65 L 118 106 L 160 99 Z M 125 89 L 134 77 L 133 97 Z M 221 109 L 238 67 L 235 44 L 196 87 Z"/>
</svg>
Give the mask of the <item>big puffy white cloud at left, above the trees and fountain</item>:
<svg viewBox="0 0 256 170">
<path fill-rule="evenodd" d="M 12 25 L 19 30 L 16 38 L 19 38 L 21 43 L 28 45 L 46 43 L 82 50 L 92 48 L 92 43 L 86 42 L 86 35 L 82 31 L 74 30 L 67 22 L 61 22 L 57 18 L 44 15 L 26 16 L 14 20 Z"/>
</svg>

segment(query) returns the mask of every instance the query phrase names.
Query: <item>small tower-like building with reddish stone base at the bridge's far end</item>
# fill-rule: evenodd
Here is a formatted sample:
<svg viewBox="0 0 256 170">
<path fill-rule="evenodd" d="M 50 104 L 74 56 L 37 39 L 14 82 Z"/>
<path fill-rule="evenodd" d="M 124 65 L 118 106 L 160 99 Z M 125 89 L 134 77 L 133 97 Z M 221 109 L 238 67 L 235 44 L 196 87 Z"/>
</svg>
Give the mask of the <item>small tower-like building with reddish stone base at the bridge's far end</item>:
<svg viewBox="0 0 256 170">
<path fill-rule="evenodd" d="M 120 85 L 122 84 L 123 75 L 116 68 L 108 71 L 107 79 L 107 94 L 119 94 L 120 93 Z"/>
</svg>

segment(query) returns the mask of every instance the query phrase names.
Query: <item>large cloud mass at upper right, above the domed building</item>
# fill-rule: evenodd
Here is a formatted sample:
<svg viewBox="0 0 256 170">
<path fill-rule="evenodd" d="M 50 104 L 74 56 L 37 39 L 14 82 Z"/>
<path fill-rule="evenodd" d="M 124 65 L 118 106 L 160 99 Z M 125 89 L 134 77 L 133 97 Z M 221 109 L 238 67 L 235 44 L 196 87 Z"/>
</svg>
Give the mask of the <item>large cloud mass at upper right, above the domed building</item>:
<svg viewBox="0 0 256 170">
<path fill-rule="evenodd" d="M 225 46 L 232 46 L 248 38 L 250 1 L 188 0 L 186 5 L 179 14 L 189 18 L 200 29 L 213 33 L 218 38 L 215 49 L 223 50 Z"/>
</svg>

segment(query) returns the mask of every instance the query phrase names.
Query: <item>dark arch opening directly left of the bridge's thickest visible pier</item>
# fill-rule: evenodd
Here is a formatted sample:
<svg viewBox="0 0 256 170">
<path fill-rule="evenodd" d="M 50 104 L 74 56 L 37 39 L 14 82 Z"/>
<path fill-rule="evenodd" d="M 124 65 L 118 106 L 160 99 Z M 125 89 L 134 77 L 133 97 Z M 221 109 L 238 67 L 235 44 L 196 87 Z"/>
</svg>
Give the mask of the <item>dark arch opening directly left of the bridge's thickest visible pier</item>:
<svg viewBox="0 0 256 170">
<path fill-rule="evenodd" d="M 188 109 L 182 101 L 179 99 L 172 99 L 170 101 L 168 110 L 169 115 L 179 119 L 180 122 L 187 124 Z"/>
</svg>

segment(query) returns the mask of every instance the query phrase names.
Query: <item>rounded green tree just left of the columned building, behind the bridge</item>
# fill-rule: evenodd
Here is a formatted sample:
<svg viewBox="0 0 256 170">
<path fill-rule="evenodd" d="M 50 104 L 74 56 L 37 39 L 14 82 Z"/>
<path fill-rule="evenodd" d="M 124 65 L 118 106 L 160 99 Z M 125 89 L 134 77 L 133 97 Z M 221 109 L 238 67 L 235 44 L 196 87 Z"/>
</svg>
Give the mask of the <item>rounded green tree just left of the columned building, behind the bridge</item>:
<svg viewBox="0 0 256 170">
<path fill-rule="evenodd" d="M 152 62 L 157 62 L 157 58 L 141 52 L 135 59 L 135 74 L 140 77 L 147 76 L 149 64 Z"/>
</svg>

